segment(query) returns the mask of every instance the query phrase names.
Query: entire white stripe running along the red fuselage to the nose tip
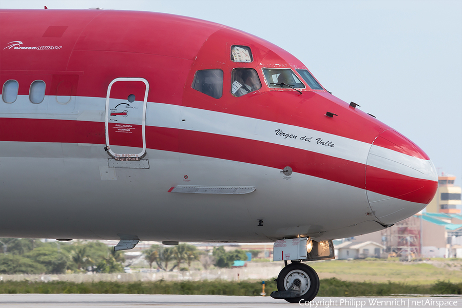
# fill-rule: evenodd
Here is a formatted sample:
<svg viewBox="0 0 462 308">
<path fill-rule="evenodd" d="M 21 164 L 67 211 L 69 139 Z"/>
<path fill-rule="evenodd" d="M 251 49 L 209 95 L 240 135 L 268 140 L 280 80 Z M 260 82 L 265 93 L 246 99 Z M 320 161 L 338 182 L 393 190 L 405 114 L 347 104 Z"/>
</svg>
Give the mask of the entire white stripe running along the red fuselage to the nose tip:
<svg viewBox="0 0 462 308">
<path fill-rule="evenodd" d="M 121 100 L 121 102 L 124 102 L 124 100 Z M 66 106 L 55 102 L 54 96 L 46 97 L 41 104 L 32 104 L 29 102 L 28 95 L 18 95 L 14 103 L 1 105 L 0 112 L 3 113 L 2 116 L 8 114 L 8 117 L 11 118 L 104 122 L 105 98 L 77 97 L 75 100 L 75 108 L 73 110 L 68 109 L 68 112 L 63 112 L 63 108 Z M 45 108 L 46 112 L 44 112 L 44 105 L 48 105 L 48 107 Z M 37 109 L 40 109 L 40 111 Z M 136 122 L 131 123 L 129 120 L 129 118 L 124 119 L 124 123 L 138 124 Z M 373 155 L 371 155 L 369 161 L 367 161 L 368 153 L 371 149 L 371 144 L 367 142 L 361 142 L 294 125 L 217 111 L 150 102 L 148 102 L 146 110 L 146 125 L 221 134 L 224 136 L 273 143 L 361 164 L 366 164 L 367 162 L 371 166 L 398 174 L 427 179 L 425 175 L 426 172 L 422 173 L 417 170 L 410 171 L 407 170 L 410 169 L 409 167 L 407 169 L 399 167 L 400 165 L 415 166 L 417 162 L 417 165 L 425 166 L 423 167 L 425 169 L 428 168 L 429 165 L 427 160 L 411 157 L 390 149 L 373 146 L 373 153 L 371 153 Z M 304 141 L 302 138 L 310 141 Z M 322 144 L 322 142 L 324 144 Z M 380 159 L 381 157 L 387 160 Z M 391 163 L 388 164 L 388 161 Z M 407 162 L 409 162 L 409 164 L 406 164 Z"/>
</svg>

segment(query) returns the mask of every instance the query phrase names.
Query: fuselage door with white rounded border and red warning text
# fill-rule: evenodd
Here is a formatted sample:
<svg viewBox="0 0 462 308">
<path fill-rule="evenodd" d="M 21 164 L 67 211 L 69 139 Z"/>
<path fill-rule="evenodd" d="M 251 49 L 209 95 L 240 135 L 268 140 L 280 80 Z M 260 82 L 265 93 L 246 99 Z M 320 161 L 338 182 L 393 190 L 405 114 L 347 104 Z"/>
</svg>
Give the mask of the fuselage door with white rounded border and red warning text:
<svg viewBox="0 0 462 308">
<path fill-rule="evenodd" d="M 148 92 L 144 78 L 116 78 L 107 88 L 106 149 L 116 160 L 140 160 L 146 154 Z"/>
</svg>

